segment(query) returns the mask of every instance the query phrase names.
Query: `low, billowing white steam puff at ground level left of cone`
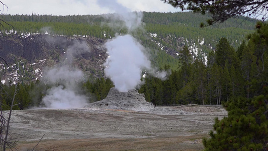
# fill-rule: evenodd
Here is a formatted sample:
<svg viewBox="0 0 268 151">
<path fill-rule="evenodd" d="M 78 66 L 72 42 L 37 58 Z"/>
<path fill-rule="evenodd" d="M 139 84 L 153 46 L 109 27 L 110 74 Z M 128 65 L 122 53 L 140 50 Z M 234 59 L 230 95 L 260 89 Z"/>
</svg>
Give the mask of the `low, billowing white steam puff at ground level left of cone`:
<svg viewBox="0 0 268 151">
<path fill-rule="evenodd" d="M 53 85 L 47 90 L 42 103 L 46 108 L 66 109 L 83 107 L 87 97 L 79 94 L 77 83 L 83 80 L 81 70 L 70 70 L 67 66 L 53 68 L 43 75 L 45 84 Z"/>
</svg>

